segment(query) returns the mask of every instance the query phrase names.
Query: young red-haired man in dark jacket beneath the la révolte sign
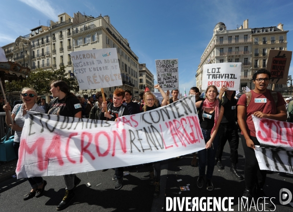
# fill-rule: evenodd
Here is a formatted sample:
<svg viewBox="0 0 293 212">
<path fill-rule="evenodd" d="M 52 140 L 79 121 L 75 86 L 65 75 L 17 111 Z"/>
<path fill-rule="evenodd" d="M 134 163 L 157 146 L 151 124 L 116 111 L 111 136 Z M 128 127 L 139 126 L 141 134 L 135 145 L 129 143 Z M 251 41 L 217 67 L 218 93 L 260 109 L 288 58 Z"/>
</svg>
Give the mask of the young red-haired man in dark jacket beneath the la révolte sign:
<svg viewBox="0 0 293 212">
<path fill-rule="evenodd" d="M 122 105 L 125 96 L 125 91 L 122 88 L 116 88 L 113 92 L 113 103 L 102 103 L 102 111 L 100 113 L 100 120 L 116 121 L 118 117 L 129 115 L 126 106 Z M 108 112 L 105 112 L 105 107 Z M 115 190 L 119 190 L 123 186 L 123 171 L 124 167 L 115 168 L 115 174 L 112 180 L 116 180 Z"/>
</svg>

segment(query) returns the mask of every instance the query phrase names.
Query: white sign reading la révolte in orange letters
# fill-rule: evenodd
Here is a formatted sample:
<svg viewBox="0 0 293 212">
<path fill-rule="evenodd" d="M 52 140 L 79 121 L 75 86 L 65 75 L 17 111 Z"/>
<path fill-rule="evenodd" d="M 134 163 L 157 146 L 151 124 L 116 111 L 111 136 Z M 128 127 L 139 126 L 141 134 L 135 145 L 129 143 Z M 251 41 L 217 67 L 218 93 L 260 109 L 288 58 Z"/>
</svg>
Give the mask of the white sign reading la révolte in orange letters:
<svg viewBox="0 0 293 212">
<path fill-rule="evenodd" d="M 70 56 L 81 90 L 123 85 L 116 48 L 74 51 Z"/>
</svg>

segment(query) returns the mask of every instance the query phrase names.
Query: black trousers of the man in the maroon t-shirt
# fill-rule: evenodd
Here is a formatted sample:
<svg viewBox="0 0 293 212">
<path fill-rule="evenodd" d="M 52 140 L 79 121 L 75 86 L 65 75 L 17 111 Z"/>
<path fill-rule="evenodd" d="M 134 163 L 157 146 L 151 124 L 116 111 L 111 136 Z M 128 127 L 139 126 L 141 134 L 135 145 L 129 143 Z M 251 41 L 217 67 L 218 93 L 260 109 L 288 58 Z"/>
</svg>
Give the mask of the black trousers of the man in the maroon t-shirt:
<svg viewBox="0 0 293 212">
<path fill-rule="evenodd" d="M 260 145 L 256 137 L 250 137 L 254 145 Z M 241 135 L 241 142 L 245 154 L 245 187 L 252 191 L 255 184 L 257 188 L 263 189 L 267 177 L 267 170 L 260 170 L 253 148 L 246 145 L 246 139 Z"/>
</svg>

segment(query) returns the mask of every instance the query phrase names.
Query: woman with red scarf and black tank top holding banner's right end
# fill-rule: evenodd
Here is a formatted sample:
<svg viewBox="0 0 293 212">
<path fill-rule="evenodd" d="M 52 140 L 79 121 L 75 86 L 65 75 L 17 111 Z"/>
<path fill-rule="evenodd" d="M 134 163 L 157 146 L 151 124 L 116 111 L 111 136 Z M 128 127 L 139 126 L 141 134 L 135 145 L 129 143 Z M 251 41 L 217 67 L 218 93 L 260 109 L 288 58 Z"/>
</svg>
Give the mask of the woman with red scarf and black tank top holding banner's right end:
<svg viewBox="0 0 293 212">
<path fill-rule="evenodd" d="M 214 85 L 210 85 L 206 91 L 206 99 L 195 103 L 195 106 L 199 108 L 199 123 L 206 142 L 206 149 L 198 151 L 199 176 L 197 179 L 197 187 L 202 188 L 204 185 L 204 176 L 208 159 L 208 191 L 213 190 L 211 177 L 215 166 L 214 159 L 219 143 L 218 128 L 224 114 L 224 107 L 221 107 L 217 95 L 219 95 L 217 88 Z"/>
</svg>

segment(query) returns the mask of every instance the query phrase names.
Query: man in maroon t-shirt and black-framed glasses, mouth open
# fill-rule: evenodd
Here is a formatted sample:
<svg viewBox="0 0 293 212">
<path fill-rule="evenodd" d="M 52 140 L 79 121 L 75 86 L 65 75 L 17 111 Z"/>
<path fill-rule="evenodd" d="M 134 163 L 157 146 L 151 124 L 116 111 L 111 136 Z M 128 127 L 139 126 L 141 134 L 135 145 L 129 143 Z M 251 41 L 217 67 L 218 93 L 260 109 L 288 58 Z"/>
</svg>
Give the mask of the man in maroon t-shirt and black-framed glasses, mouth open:
<svg viewBox="0 0 293 212">
<path fill-rule="evenodd" d="M 251 90 L 250 94 L 242 95 L 237 103 L 237 118 L 239 127 L 241 128 L 241 142 L 245 154 L 244 178 L 246 189 L 242 199 L 244 203 L 248 201 L 249 204 L 253 197 L 267 196 L 263 191 L 267 170 L 259 169 L 254 153 L 254 146 L 260 145 L 260 143 L 255 135 L 256 130 L 251 115 L 278 121 L 286 121 L 287 118 L 286 103 L 282 95 L 279 92 L 267 89 L 270 78 L 271 72 L 268 70 L 257 70 L 252 76 L 255 88 Z M 273 94 L 275 94 L 275 97 Z M 256 194 L 252 194 L 255 186 Z"/>
</svg>

